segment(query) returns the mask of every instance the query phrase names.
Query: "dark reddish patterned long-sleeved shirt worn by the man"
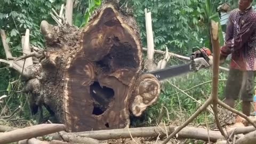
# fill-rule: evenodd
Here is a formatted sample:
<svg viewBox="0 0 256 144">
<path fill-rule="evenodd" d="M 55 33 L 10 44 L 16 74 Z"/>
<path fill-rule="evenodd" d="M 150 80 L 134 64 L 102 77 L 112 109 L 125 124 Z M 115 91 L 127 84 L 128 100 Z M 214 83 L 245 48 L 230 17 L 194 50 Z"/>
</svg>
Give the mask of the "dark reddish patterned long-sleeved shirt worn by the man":
<svg viewBox="0 0 256 144">
<path fill-rule="evenodd" d="M 230 12 L 225 45 L 222 55 L 231 54 L 230 68 L 256 70 L 256 12 L 250 7 L 245 11 Z"/>
</svg>

